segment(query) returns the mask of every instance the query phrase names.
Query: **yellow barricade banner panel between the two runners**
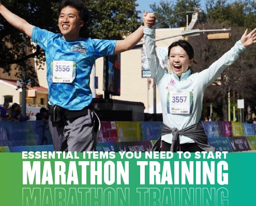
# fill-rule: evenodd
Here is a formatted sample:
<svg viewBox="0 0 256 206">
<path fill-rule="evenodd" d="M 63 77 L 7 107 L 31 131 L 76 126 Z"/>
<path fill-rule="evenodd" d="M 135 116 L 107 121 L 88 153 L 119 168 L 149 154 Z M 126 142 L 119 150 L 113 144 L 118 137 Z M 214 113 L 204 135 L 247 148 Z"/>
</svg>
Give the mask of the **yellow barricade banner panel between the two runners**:
<svg viewBox="0 0 256 206">
<path fill-rule="evenodd" d="M 141 122 L 116 122 L 118 142 L 141 140 Z"/>
</svg>

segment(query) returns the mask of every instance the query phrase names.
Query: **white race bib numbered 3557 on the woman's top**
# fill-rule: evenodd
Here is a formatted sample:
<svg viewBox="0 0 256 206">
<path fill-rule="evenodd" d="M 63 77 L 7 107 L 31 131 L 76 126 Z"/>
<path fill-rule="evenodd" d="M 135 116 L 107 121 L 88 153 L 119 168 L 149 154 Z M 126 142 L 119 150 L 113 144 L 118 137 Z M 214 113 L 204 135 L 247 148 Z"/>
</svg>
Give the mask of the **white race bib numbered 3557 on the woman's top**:
<svg viewBox="0 0 256 206">
<path fill-rule="evenodd" d="M 170 93 L 169 111 L 171 114 L 190 114 L 192 112 L 192 92 Z"/>
</svg>

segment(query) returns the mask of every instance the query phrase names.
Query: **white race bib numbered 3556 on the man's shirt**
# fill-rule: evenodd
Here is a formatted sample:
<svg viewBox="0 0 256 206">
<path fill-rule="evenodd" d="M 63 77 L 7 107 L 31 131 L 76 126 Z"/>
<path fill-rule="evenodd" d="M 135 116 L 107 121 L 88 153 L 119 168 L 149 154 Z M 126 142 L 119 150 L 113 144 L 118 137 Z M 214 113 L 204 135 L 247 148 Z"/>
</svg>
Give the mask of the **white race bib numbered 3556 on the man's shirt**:
<svg viewBox="0 0 256 206">
<path fill-rule="evenodd" d="M 76 76 L 76 62 L 52 61 L 52 82 L 71 83 Z"/>
</svg>

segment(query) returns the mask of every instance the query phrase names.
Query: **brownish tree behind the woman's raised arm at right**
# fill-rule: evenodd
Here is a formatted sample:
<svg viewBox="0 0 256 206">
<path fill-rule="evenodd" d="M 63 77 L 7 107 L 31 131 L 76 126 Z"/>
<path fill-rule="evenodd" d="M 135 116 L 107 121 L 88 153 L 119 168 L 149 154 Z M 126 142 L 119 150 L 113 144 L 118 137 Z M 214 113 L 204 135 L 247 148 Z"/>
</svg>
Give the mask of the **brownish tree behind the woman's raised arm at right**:
<svg viewBox="0 0 256 206">
<path fill-rule="evenodd" d="M 222 28 L 222 23 L 198 25 L 200 29 L 217 29 Z M 238 26 L 225 25 L 231 27 L 232 35 L 228 40 L 207 40 L 205 34 L 200 37 L 190 37 L 189 42 L 192 44 L 195 52 L 196 64 L 195 71 L 199 72 L 207 68 L 222 54 L 227 52 L 237 40 L 243 35 L 245 28 Z M 224 121 L 228 121 L 228 95 L 231 96 L 231 104 L 236 105 L 237 99 L 245 99 L 246 104 L 255 105 L 255 87 L 253 80 L 256 75 L 254 68 L 256 49 L 254 46 L 247 48 L 240 57 L 220 75 L 220 78 L 210 85 L 204 94 L 204 102 L 214 102 L 218 114 L 223 116 Z M 194 68 L 193 68 L 194 69 Z M 254 102 L 254 103 L 253 103 Z M 247 105 L 246 105 L 247 106 Z M 203 116 L 202 116 L 203 117 Z M 222 118 L 221 118 L 222 119 Z"/>
</svg>

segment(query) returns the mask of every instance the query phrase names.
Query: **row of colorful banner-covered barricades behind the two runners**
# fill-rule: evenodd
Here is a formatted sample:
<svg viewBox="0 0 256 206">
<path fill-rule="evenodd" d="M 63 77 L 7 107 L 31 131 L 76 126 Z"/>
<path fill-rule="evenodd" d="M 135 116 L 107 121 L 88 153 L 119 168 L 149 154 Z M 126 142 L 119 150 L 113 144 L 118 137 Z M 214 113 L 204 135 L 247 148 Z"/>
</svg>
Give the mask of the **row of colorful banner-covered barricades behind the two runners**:
<svg viewBox="0 0 256 206">
<path fill-rule="evenodd" d="M 256 124 L 204 121 L 202 124 L 208 143 L 216 151 L 256 149 Z M 149 151 L 161 135 L 161 128 L 162 122 L 103 121 L 97 151 Z M 0 152 L 53 150 L 50 132 L 41 121 L 0 121 L 0 134 Z"/>
</svg>

